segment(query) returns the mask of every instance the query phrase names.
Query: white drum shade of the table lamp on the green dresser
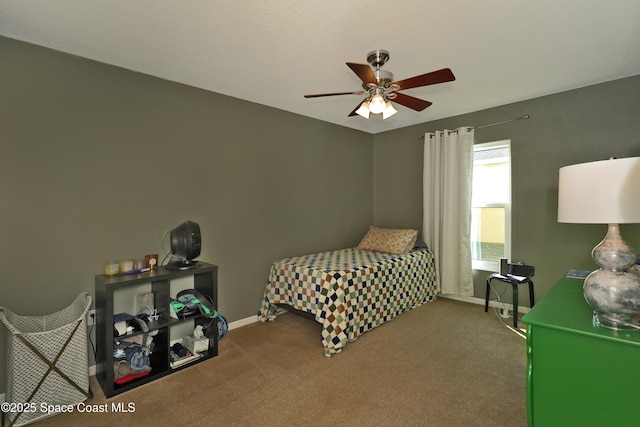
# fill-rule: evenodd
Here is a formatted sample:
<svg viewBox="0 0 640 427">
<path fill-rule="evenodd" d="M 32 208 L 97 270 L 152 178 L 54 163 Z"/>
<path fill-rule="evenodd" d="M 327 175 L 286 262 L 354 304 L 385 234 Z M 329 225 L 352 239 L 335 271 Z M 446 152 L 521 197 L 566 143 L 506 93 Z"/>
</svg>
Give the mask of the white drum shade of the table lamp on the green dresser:
<svg viewBox="0 0 640 427">
<path fill-rule="evenodd" d="M 560 168 L 558 222 L 640 222 L 640 157 Z"/>
</svg>

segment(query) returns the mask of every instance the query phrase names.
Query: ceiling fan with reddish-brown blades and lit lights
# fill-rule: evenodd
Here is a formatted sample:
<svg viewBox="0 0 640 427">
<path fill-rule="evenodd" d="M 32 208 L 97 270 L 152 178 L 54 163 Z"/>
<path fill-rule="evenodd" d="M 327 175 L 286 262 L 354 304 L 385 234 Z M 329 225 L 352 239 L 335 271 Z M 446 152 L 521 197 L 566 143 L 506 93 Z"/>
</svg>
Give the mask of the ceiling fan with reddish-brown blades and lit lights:
<svg viewBox="0 0 640 427">
<path fill-rule="evenodd" d="M 443 68 L 408 79 L 393 81 L 393 74 L 380 69 L 388 60 L 389 52 L 377 49 L 367 54 L 367 62 L 371 64 L 372 67 L 375 67 L 375 70 L 367 64 L 347 62 L 347 66 L 362 80 L 362 88 L 364 90 L 320 93 L 305 95 L 304 97 L 319 98 L 336 95 L 367 95 L 348 116 L 351 117 L 357 114 L 368 119 L 369 113 L 373 113 L 382 114 L 382 118 L 386 119 L 398 112 L 393 105 L 391 105 L 391 102 L 396 102 L 416 111 L 422 111 L 432 104 L 429 101 L 401 93 L 401 90 L 450 82 L 456 79 L 449 68 Z"/>
</svg>

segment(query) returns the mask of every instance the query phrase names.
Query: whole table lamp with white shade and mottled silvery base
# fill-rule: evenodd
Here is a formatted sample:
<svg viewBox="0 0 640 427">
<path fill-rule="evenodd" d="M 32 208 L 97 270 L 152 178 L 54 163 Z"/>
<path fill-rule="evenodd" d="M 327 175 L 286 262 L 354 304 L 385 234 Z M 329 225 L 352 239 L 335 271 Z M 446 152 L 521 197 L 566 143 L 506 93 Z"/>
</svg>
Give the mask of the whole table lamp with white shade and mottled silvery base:
<svg viewBox="0 0 640 427">
<path fill-rule="evenodd" d="M 639 329 L 640 277 L 628 271 L 638 255 L 622 239 L 619 224 L 640 223 L 640 157 L 560 168 L 558 222 L 609 225 L 591 252 L 601 268 L 586 277 L 584 297 L 594 324 Z"/>
</svg>

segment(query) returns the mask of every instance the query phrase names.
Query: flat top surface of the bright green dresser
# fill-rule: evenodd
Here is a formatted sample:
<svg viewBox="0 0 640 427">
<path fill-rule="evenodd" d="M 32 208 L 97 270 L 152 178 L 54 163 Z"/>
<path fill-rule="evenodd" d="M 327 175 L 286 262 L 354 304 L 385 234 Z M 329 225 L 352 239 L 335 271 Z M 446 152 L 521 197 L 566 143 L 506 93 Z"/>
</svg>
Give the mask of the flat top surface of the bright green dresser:
<svg viewBox="0 0 640 427">
<path fill-rule="evenodd" d="M 582 293 L 583 282 L 583 279 L 563 277 L 522 321 L 529 325 L 624 341 L 640 347 L 640 330 L 616 331 L 593 324 L 593 309 Z"/>
</svg>

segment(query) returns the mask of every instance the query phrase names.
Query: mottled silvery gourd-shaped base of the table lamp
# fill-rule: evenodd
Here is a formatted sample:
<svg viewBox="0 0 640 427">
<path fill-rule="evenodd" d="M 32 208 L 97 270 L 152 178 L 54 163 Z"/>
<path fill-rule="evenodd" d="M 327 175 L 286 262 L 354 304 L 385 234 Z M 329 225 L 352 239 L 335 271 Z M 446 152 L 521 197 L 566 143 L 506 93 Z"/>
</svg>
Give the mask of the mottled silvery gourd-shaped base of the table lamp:
<svg viewBox="0 0 640 427">
<path fill-rule="evenodd" d="M 640 277 L 628 272 L 637 254 L 609 224 L 607 236 L 593 249 L 600 267 L 584 280 L 584 298 L 593 307 L 593 324 L 611 329 L 640 329 Z"/>
</svg>

